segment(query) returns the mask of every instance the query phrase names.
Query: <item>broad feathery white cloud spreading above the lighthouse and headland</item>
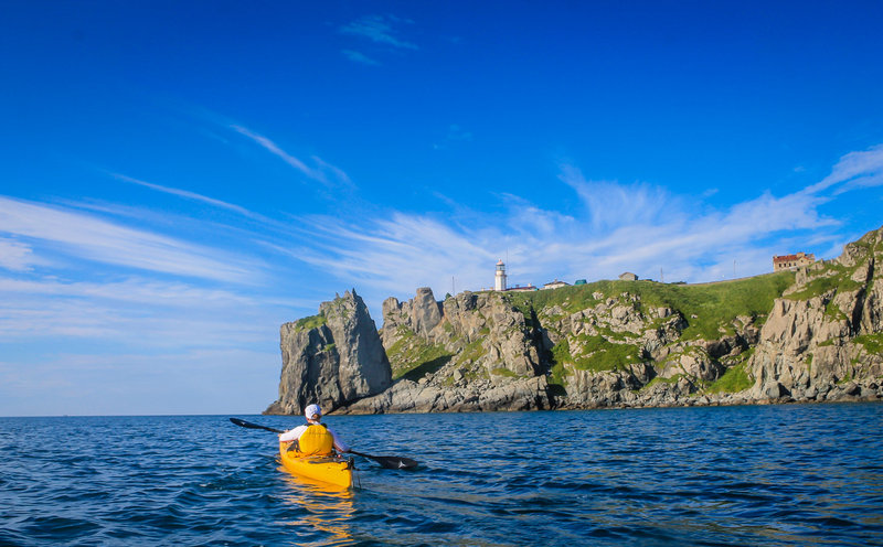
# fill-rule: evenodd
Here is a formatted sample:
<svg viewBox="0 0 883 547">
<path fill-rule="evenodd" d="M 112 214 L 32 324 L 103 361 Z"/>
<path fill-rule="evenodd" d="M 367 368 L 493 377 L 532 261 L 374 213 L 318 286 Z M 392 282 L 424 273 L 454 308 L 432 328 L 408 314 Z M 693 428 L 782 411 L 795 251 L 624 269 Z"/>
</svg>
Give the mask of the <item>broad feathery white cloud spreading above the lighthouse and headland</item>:
<svg viewBox="0 0 883 547">
<path fill-rule="evenodd" d="M 688 282 L 756 275 L 772 269 L 783 242 L 802 248 L 811 238 L 815 248 L 837 248 L 840 223 L 822 206 L 843 189 L 876 184 L 881 158 L 883 147 L 847 154 L 818 184 L 784 196 L 765 192 L 725 208 L 651 184 L 586 180 L 565 164 L 558 179 L 582 205 L 571 215 L 503 195 L 506 210 L 494 215 L 392 212 L 352 224 L 305 217 L 301 225 L 321 245 L 291 253 L 337 278 L 358 279 L 374 307 L 421 286 L 444 293 L 451 278 L 458 290 L 488 287 L 493 262 L 504 255 L 510 280 L 521 285 L 610 279 L 626 270 Z"/>
</svg>

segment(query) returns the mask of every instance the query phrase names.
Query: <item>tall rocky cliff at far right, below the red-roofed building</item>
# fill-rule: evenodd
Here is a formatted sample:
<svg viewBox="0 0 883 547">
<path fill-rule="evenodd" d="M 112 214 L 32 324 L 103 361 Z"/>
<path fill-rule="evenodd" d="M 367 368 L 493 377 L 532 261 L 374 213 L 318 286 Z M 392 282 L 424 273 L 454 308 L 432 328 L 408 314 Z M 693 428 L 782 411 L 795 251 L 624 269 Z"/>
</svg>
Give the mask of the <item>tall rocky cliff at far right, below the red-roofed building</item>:
<svg viewBox="0 0 883 547">
<path fill-rule="evenodd" d="M 748 363 L 754 398 L 873 397 L 883 380 L 883 228 L 801 270 Z"/>
</svg>

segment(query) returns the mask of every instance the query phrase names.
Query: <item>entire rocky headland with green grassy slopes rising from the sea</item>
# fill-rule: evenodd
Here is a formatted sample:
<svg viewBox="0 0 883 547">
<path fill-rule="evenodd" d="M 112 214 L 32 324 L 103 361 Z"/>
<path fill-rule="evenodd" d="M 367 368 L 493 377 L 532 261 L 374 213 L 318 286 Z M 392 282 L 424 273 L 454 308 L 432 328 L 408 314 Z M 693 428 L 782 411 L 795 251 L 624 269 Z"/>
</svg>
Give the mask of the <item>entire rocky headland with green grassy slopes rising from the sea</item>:
<svg viewBox="0 0 883 547">
<path fill-rule="evenodd" d="M 279 398 L 339 414 L 883 398 L 883 228 L 797 271 L 532 292 L 350 291 L 281 326 Z"/>
</svg>

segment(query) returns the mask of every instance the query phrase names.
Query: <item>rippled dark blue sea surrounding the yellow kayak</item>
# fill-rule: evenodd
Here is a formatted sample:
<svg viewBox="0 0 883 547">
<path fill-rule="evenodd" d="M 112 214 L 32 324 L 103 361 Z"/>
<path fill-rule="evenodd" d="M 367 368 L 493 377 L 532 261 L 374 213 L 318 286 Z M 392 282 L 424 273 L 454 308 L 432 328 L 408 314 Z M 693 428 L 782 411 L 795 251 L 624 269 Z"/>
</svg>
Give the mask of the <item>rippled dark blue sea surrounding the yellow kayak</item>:
<svg viewBox="0 0 883 547">
<path fill-rule="evenodd" d="M 883 545 L 879 404 L 326 421 L 422 465 L 342 493 L 226 416 L 0 418 L 0 545 Z"/>
</svg>

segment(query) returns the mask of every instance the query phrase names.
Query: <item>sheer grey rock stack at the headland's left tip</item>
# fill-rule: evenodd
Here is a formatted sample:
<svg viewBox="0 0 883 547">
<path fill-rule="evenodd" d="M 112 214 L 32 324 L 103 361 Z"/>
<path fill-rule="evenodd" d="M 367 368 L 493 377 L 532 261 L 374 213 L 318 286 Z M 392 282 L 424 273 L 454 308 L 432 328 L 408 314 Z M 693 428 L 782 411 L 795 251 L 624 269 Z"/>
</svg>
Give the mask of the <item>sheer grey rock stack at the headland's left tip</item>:
<svg viewBox="0 0 883 547">
<path fill-rule="evenodd" d="M 390 362 L 362 298 L 345 292 L 319 314 L 280 329 L 279 398 L 265 414 L 297 415 L 310 403 L 327 412 L 383 392 Z"/>
</svg>

